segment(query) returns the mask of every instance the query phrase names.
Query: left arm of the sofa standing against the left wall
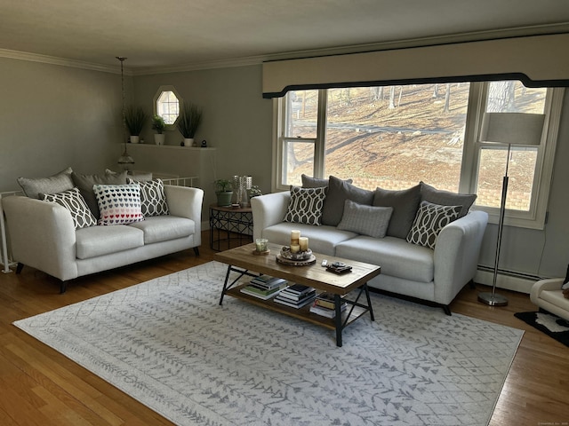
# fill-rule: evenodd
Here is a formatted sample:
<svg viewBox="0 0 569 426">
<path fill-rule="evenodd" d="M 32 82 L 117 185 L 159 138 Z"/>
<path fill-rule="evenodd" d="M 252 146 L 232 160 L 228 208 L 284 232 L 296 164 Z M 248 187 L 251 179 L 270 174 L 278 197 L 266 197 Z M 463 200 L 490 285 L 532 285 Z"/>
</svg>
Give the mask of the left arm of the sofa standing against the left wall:
<svg viewBox="0 0 569 426">
<path fill-rule="evenodd" d="M 60 280 L 78 276 L 75 224 L 53 202 L 12 196 L 2 200 L 12 257 Z"/>
</svg>

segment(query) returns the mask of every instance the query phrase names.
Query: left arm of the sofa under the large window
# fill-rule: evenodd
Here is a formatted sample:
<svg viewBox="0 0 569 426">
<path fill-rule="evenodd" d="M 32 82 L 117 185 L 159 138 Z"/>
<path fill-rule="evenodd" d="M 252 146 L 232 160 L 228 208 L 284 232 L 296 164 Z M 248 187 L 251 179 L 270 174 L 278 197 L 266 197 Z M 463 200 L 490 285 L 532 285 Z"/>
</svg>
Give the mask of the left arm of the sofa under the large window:
<svg viewBox="0 0 569 426">
<path fill-rule="evenodd" d="M 289 191 L 268 193 L 251 199 L 253 241 L 260 238 L 268 226 L 283 222 L 290 199 Z"/>
</svg>

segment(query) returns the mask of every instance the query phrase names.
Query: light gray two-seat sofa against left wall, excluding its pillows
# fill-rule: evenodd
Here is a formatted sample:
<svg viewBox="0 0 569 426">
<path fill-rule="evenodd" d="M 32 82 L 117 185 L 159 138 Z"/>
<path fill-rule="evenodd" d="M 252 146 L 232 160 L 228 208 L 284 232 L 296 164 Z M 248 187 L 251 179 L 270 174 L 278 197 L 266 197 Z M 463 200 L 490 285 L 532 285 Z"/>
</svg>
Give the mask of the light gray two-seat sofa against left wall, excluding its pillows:
<svg viewBox="0 0 569 426">
<path fill-rule="evenodd" d="M 169 214 L 145 217 L 130 225 L 94 225 L 76 229 L 68 209 L 23 196 L 3 199 L 12 257 L 18 270 L 28 265 L 68 280 L 164 256 L 201 244 L 204 191 L 164 185 Z"/>
</svg>

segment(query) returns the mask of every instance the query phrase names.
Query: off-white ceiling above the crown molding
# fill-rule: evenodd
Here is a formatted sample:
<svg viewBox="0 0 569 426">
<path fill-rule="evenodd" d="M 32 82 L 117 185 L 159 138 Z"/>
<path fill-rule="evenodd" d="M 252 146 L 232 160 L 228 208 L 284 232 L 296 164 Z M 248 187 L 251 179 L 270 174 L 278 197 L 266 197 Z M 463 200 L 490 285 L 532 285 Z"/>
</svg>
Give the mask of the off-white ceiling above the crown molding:
<svg viewBox="0 0 569 426">
<path fill-rule="evenodd" d="M 338 47 L 569 31 L 566 0 L 3 0 L 0 56 L 131 70 L 275 59 Z M 473 34 L 474 33 L 474 34 Z M 510 34 L 510 33 L 504 33 Z M 432 41 L 432 40 L 431 40 Z M 12 52 L 11 52 L 12 53 Z"/>
</svg>

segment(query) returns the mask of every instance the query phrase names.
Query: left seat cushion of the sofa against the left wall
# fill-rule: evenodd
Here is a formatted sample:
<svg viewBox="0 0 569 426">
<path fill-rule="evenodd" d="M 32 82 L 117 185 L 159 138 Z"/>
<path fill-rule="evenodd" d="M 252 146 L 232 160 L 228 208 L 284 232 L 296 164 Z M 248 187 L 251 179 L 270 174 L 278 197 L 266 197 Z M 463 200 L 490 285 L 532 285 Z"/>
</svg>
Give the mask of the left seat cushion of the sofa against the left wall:
<svg viewBox="0 0 569 426">
<path fill-rule="evenodd" d="M 76 256 L 79 259 L 110 255 L 144 245 L 144 233 L 126 225 L 90 226 L 76 230 Z"/>
</svg>

